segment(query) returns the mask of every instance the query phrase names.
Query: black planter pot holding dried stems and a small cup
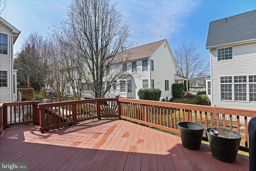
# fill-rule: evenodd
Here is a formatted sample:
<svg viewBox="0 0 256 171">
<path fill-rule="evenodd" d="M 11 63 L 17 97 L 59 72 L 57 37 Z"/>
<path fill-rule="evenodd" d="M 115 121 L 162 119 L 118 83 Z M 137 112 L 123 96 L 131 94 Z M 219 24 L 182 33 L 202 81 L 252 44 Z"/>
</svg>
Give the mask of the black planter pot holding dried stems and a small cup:
<svg viewBox="0 0 256 171">
<path fill-rule="evenodd" d="M 213 135 L 210 133 L 211 129 L 218 129 L 220 133 L 225 132 L 226 135 L 231 135 L 234 138 Z M 242 135 L 239 132 L 226 128 L 210 127 L 206 129 L 206 134 L 210 143 L 213 157 L 227 163 L 233 163 L 236 161 L 236 155 L 242 138 Z"/>
</svg>

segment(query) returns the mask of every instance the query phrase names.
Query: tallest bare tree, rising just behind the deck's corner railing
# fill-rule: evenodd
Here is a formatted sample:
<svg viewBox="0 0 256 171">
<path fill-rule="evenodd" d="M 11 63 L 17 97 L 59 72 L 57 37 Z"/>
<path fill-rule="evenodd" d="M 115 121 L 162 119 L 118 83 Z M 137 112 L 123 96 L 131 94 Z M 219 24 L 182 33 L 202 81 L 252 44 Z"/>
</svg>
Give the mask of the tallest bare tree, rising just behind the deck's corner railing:
<svg viewBox="0 0 256 171">
<path fill-rule="evenodd" d="M 120 66 L 122 60 L 128 58 L 122 50 L 131 46 L 129 26 L 121 22 L 122 15 L 109 0 L 73 0 L 68 17 L 62 30 L 70 39 L 62 43 L 76 52 L 70 59 L 76 63 L 95 97 L 104 97 L 106 91 L 124 76 L 122 68 L 113 66 Z M 116 72 L 108 76 L 110 67 Z"/>
</svg>

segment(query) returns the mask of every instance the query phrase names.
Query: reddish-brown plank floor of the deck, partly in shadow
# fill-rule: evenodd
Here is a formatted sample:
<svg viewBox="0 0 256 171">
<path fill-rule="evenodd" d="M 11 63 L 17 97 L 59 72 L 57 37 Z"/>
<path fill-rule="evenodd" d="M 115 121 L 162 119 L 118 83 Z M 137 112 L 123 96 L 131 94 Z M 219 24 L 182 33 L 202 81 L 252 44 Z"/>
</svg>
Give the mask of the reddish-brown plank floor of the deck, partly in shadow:
<svg viewBox="0 0 256 171">
<path fill-rule="evenodd" d="M 249 170 L 249 157 L 235 163 L 215 159 L 208 145 L 197 151 L 180 137 L 124 120 L 98 120 L 41 133 L 38 126 L 5 129 L 0 161 L 28 162 L 35 171 Z"/>
</svg>

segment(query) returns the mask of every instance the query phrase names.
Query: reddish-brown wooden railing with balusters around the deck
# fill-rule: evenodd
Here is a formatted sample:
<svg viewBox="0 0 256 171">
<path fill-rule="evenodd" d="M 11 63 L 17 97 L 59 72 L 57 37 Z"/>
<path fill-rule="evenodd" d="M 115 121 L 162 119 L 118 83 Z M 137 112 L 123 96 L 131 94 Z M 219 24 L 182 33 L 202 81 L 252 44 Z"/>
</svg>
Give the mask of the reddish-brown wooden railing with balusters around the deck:
<svg viewBox="0 0 256 171">
<path fill-rule="evenodd" d="M 17 106 L 20 107 L 17 108 Z M 24 115 L 26 112 L 22 111 L 25 108 L 32 109 L 30 112 L 27 111 L 28 117 Z M 15 109 L 16 116 L 18 116 L 16 119 L 12 117 Z M 256 111 L 126 98 L 104 98 L 43 104 L 39 104 L 38 101 L 0 103 L 0 117 L 1 114 L 3 122 L 0 126 L 34 122 L 38 123 L 40 131 L 74 125 L 80 121 L 114 117 L 179 134 L 178 122 L 193 121 L 203 124 L 205 128 L 226 127 L 242 133 L 240 150 L 248 152 L 248 121 L 256 114 Z M 8 123 L 8 118 L 11 118 L 10 123 Z M 203 139 L 208 141 L 205 133 Z"/>
</svg>

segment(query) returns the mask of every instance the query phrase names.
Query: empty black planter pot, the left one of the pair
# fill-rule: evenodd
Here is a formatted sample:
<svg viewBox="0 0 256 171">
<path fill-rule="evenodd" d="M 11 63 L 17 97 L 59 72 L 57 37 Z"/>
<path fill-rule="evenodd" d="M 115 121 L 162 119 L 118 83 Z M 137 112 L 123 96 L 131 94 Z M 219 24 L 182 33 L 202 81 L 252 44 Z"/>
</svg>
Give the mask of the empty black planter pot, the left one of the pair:
<svg viewBox="0 0 256 171">
<path fill-rule="evenodd" d="M 183 147 L 198 150 L 204 133 L 204 125 L 196 122 L 179 122 L 178 128 Z"/>
</svg>

